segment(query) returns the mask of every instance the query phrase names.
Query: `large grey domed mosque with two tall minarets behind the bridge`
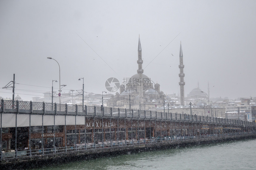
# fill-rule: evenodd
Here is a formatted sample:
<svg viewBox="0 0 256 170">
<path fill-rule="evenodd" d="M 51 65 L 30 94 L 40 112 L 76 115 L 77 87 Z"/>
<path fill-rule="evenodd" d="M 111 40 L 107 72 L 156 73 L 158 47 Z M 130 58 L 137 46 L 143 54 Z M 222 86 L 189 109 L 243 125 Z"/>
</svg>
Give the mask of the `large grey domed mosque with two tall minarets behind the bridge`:
<svg viewBox="0 0 256 170">
<path fill-rule="evenodd" d="M 142 49 L 141 41 L 139 37 L 138 43 L 138 70 L 137 74 L 134 74 L 124 84 L 120 85 L 119 93 L 106 101 L 107 107 L 115 108 L 127 108 L 127 109 L 141 109 L 141 110 L 158 110 L 163 107 L 168 107 L 168 104 L 177 104 L 177 96 L 167 96 L 160 90 L 160 84 L 155 83 L 148 76 L 143 74 L 142 69 Z M 180 82 L 181 86 L 181 98 L 184 105 L 184 76 L 183 74 L 183 55 L 180 44 Z M 183 95 L 183 96 L 182 96 Z"/>
</svg>

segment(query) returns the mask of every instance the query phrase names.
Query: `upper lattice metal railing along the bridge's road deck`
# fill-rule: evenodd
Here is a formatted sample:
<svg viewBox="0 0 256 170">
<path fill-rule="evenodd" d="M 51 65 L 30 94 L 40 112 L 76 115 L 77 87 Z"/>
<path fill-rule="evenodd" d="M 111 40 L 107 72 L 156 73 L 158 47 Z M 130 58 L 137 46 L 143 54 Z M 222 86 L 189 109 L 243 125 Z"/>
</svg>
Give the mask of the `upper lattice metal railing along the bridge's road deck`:
<svg viewBox="0 0 256 170">
<path fill-rule="evenodd" d="M 10 101 L 0 100 L 1 113 L 32 113 L 32 114 L 55 114 L 55 115 L 88 115 L 88 116 L 115 116 L 131 118 L 149 118 L 157 120 L 177 120 L 203 123 L 221 123 L 228 125 L 256 126 L 255 122 L 242 120 L 230 120 L 219 117 L 186 115 L 178 113 L 132 110 L 123 108 L 109 108 L 68 104 L 51 104 L 45 102 Z"/>
</svg>

